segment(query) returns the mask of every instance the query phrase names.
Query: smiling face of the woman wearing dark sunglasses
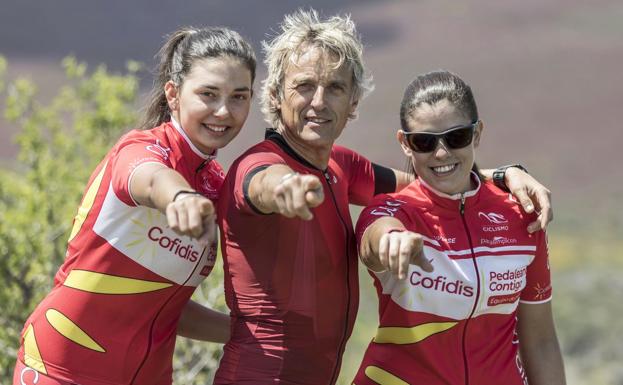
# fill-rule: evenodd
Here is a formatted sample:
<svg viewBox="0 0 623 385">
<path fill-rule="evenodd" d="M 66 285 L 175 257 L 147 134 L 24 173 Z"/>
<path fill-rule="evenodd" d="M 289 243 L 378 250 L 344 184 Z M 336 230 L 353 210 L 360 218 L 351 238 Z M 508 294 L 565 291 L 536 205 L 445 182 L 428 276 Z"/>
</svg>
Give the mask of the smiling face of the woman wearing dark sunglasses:
<svg viewBox="0 0 623 385">
<path fill-rule="evenodd" d="M 447 99 L 433 105 L 422 104 L 407 119 L 409 132 L 440 133 L 471 123 L 473 122 Z M 452 195 L 472 188 L 470 172 L 481 132 L 482 124 L 478 123 L 473 140 L 466 147 L 452 149 L 448 147 L 445 139 L 441 139 L 431 152 L 425 153 L 413 151 L 400 131 L 398 140 L 404 153 L 411 158 L 417 175 L 437 191 Z"/>
</svg>

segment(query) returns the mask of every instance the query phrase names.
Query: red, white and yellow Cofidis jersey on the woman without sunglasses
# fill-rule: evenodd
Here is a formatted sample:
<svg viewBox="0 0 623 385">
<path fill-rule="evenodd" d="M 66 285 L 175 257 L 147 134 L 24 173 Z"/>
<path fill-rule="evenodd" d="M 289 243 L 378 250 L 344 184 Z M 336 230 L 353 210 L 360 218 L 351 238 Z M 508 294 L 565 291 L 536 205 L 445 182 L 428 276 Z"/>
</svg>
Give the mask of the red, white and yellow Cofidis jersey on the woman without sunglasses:
<svg viewBox="0 0 623 385">
<path fill-rule="evenodd" d="M 20 361 L 81 385 L 172 382 L 177 322 L 216 245 L 177 235 L 164 214 L 134 202 L 128 184 L 155 162 L 216 201 L 224 173 L 213 158 L 174 122 L 117 142 L 89 180 L 54 288 L 24 326 Z"/>
</svg>

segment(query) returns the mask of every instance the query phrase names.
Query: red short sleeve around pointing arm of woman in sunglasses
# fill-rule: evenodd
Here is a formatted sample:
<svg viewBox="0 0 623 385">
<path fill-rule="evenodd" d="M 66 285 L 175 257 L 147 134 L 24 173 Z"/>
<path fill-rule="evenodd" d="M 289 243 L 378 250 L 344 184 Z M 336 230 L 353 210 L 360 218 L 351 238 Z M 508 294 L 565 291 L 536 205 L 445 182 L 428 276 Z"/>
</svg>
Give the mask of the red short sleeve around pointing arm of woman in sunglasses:
<svg viewBox="0 0 623 385">
<path fill-rule="evenodd" d="M 406 228 L 410 228 L 411 218 L 407 214 L 407 202 L 400 196 L 389 194 L 381 194 L 374 197 L 369 206 L 367 206 L 359 215 L 357 226 L 355 227 L 355 236 L 357 239 L 357 247 L 361 244 L 363 233 L 372 223 L 381 217 L 393 217 L 398 219 Z"/>
</svg>

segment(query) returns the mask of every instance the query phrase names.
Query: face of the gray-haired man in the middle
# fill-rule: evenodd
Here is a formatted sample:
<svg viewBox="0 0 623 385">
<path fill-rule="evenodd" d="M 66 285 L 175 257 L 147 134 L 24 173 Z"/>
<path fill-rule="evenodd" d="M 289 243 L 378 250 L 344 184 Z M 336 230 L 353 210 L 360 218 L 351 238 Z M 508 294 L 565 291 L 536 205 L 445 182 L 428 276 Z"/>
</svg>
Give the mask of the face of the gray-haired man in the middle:
<svg viewBox="0 0 623 385">
<path fill-rule="evenodd" d="M 282 133 L 295 147 L 329 149 L 355 111 L 353 74 L 348 65 L 311 47 L 293 55 L 283 80 Z"/>
</svg>

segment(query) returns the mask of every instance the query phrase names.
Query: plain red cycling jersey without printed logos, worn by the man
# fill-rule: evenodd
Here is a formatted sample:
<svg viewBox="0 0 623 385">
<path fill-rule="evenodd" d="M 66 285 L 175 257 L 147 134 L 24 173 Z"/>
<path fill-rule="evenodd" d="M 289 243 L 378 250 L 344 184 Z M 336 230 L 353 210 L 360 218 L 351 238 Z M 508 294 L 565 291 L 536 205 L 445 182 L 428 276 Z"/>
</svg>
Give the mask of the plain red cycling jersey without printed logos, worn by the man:
<svg viewBox="0 0 623 385">
<path fill-rule="evenodd" d="M 246 195 L 256 172 L 286 164 L 317 176 L 324 202 L 303 221 L 263 215 Z M 358 305 L 349 203 L 373 196 L 373 165 L 334 146 L 326 170 L 272 131 L 230 168 L 218 205 L 231 340 L 215 384 L 333 384 Z"/>
</svg>

